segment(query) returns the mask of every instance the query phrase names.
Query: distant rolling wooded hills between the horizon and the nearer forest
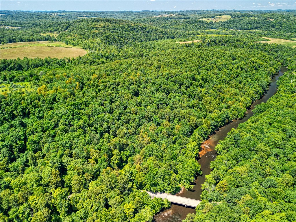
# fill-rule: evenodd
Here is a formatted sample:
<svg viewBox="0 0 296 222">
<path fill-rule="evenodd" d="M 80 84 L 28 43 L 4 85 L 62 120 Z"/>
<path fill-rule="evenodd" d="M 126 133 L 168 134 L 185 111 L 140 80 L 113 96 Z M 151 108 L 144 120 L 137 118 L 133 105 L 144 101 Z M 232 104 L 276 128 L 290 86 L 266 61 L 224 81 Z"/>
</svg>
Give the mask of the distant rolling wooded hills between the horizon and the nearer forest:
<svg viewBox="0 0 296 222">
<path fill-rule="evenodd" d="M 189 38 L 196 34 L 243 34 L 243 36 L 247 34 L 253 37 L 265 36 L 290 40 L 296 38 L 296 15 L 293 10 L 276 13 L 225 10 L 116 13 L 2 11 L 1 13 L 3 13 L 1 25 L 16 27 L 16 29 L 1 29 L 1 44 L 22 41 L 63 41 L 83 46 L 87 50 L 102 50 L 109 45 L 121 48 L 133 42 Z M 231 18 L 223 22 L 203 20 L 225 15 Z M 244 32 L 237 32 L 241 30 Z"/>
</svg>

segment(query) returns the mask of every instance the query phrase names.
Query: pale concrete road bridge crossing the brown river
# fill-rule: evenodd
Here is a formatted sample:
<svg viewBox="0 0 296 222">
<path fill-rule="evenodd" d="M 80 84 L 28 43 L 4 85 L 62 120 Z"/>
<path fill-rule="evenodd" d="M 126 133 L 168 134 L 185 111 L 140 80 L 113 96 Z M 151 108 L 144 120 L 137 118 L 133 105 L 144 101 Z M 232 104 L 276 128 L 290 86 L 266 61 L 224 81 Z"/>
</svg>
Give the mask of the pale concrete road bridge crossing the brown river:
<svg viewBox="0 0 296 222">
<path fill-rule="evenodd" d="M 144 191 L 142 191 L 144 192 Z M 162 199 L 168 199 L 168 201 L 172 202 L 172 203 L 176 203 L 176 204 L 181 204 L 184 205 L 185 207 L 196 207 L 197 205 L 200 204 L 200 200 L 194 200 L 194 199 L 190 199 L 187 197 L 180 197 L 180 196 L 176 196 L 176 195 L 172 195 L 172 194 L 166 194 L 166 193 L 160 193 L 160 192 L 149 192 L 146 191 L 150 197 L 153 199 L 154 197 L 159 197 Z"/>
</svg>

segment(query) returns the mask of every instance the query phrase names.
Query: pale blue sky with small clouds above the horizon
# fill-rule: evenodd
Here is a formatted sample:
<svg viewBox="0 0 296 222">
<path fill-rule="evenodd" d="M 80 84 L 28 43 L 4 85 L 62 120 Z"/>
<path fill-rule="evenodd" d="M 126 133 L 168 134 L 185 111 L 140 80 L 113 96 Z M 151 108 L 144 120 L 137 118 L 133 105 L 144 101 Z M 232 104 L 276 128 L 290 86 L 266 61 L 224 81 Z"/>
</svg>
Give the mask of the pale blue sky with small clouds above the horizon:
<svg viewBox="0 0 296 222">
<path fill-rule="evenodd" d="M 237 9 L 237 10 L 275 10 L 296 9 L 293 1 L 225 1 L 225 0 L 1 0 L 1 10 L 23 11 L 141 11 L 141 10 L 201 10 L 201 9 Z"/>
</svg>

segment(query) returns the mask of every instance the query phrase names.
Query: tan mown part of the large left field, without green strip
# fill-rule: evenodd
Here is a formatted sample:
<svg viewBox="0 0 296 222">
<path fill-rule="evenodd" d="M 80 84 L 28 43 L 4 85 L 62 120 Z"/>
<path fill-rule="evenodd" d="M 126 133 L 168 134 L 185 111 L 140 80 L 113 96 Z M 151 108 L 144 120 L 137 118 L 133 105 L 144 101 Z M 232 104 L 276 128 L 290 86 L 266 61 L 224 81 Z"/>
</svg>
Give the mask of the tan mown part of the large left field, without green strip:
<svg viewBox="0 0 296 222">
<path fill-rule="evenodd" d="M 84 49 L 66 48 L 66 47 L 45 47 L 45 46 L 30 46 L 30 47 L 16 47 L 1 49 L 1 59 L 23 59 L 28 58 L 64 58 L 64 57 L 78 57 L 83 56 L 87 52 Z"/>
</svg>

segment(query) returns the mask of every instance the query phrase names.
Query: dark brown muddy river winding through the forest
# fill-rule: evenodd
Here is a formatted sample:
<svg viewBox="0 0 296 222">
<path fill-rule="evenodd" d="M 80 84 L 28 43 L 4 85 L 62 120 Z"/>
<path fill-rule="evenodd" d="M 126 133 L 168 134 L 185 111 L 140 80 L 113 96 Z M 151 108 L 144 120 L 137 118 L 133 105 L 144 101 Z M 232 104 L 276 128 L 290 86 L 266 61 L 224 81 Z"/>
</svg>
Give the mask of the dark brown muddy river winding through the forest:
<svg viewBox="0 0 296 222">
<path fill-rule="evenodd" d="M 276 94 L 276 81 L 279 79 L 287 71 L 287 68 L 281 67 L 279 73 L 277 73 L 274 78 L 272 78 L 270 86 L 266 94 L 259 100 L 256 100 L 252 103 L 251 107 L 245 113 L 243 119 L 234 120 L 231 123 L 227 124 L 219 128 L 213 135 L 210 136 L 209 139 L 205 141 L 205 144 L 209 144 L 207 147 L 203 147 L 202 150 L 199 152 L 200 158 L 198 159 L 198 163 L 201 165 L 202 176 L 197 176 L 197 179 L 194 182 L 194 187 L 192 190 L 184 191 L 181 194 L 177 194 L 178 196 L 188 197 L 195 200 L 200 200 L 200 194 L 202 192 L 201 185 L 205 182 L 205 175 L 210 174 L 210 162 L 215 159 L 217 156 L 215 151 L 215 146 L 218 142 L 224 139 L 227 136 L 227 133 L 232 128 L 237 128 L 239 123 L 246 122 L 252 115 L 252 110 L 254 107 L 262 102 L 266 102 L 271 96 Z M 167 209 L 154 217 L 155 222 L 180 222 L 186 218 L 188 213 L 195 213 L 194 208 L 184 207 L 181 205 L 172 204 L 170 209 Z"/>
</svg>

